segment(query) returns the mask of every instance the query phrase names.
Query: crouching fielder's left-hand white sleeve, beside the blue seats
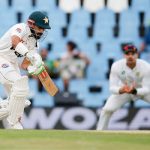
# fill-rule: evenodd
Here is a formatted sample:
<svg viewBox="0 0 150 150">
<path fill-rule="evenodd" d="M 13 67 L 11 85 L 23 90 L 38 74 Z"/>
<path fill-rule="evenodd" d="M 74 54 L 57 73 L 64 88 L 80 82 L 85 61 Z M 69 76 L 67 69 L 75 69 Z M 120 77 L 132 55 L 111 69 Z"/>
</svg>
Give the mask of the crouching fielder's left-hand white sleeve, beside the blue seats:
<svg viewBox="0 0 150 150">
<path fill-rule="evenodd" d="M 117 65 L 112 65 L 111 72 L 110 72 L 110 78 L 109 78 L 109 87 L 110 87 L 110 92 L 113 94 L 119 94 L 119 81 L 120 78 L 118 76 L 117 72 Z"/>
</svg>

